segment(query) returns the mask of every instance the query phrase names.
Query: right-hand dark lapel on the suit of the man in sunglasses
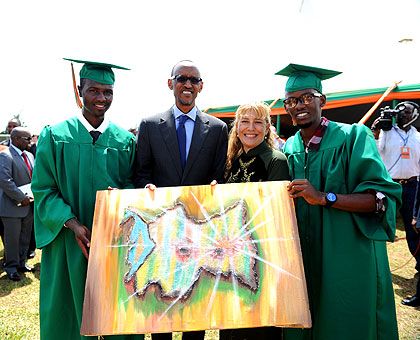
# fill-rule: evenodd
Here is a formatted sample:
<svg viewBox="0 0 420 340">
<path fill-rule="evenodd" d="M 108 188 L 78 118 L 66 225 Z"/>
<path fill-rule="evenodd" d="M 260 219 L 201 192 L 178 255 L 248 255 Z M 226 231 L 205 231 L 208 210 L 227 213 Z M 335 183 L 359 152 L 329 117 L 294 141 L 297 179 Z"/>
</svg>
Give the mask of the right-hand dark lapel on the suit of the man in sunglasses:
<svg viewBox="0 0 420 340">
<path fill-rule="evenodd" d="M 191 139 L 190 151 L 188 152 L 187 163 L 185 164 L 184 174 L 182 181 L 188 176 L 193 164 L 196 162 L 200 150 L 207 138 L 207 134 L 210 130 L 208 118 L 197 109 L 197 117 L 195 119 L 193 136 Z M 209 183 L 210 184 L 210 183 Z"/>
</svg>

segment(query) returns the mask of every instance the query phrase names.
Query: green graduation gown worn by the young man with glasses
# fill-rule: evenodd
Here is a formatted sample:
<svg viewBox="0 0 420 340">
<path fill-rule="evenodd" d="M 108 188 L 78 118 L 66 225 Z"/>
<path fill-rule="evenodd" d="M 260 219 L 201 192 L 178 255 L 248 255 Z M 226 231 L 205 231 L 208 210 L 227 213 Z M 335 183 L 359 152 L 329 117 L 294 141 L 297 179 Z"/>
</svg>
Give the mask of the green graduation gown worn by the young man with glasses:
<svg viewBox="0 0 420 340">
<path fill-rule="evenodd" d="M 398 339 L 386 242 L 395 235 L 401 186 L 386 171 L 370 130 L 330 122 L 318 151 L 305 153 L 300 133 L 283 152 L 292 179 L 336 194 L 382 192 L 386 211 L 350 213 L 296 202 L 312 329 L 285 329 L 285 339 Z"/>
</svg>

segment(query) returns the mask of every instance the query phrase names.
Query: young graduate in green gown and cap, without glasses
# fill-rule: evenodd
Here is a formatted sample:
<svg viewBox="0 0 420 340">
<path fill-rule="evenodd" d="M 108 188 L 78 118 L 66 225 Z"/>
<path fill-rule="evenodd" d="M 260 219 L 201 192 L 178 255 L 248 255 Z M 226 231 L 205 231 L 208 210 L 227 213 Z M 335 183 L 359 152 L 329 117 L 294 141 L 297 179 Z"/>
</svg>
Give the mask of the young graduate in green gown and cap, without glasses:
<svg viewBox="0 0 420 340">
<path fill-rule="evenodd" d="M 74 61 L 84 63 L 78 88 L 83 105 L 75 92 L 81 114 L 44 128 L 32 178 L 42 248 L 41 340 L 86 338 L 80 325 L 96 191 L 133 187 L 134 136 L 105 118 L 113 99 L 112 68 L 121 67 Z"/>
</svg>

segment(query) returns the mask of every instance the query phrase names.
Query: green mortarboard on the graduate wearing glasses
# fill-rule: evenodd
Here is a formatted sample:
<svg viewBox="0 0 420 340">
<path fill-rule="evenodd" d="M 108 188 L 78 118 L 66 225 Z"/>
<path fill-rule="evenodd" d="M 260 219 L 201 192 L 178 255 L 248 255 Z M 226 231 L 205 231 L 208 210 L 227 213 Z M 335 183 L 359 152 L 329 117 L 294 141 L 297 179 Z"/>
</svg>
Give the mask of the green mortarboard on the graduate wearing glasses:
<svg viewBox="0 0 420 340">
<path fill-rule="evenodd" d="M 276 74 L 289 77 L 286 83 L 286 92 L 315 89 L 322 93 L 321 80 L 329 79 L 342 72 L 326 70 L 298 64 L 289 64 Z"/>
</svg>

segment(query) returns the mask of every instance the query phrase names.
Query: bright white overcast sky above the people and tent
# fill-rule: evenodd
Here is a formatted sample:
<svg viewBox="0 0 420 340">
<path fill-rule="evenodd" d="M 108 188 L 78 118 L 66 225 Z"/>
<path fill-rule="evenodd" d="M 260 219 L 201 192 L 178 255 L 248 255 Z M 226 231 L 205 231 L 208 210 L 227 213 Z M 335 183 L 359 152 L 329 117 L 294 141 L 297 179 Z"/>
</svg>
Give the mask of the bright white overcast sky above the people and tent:
<svg viewBox="0 0 420 340">
<path fill-rule="evenodd" d="M 183 59 L 201 71 L 201 110 L 282 97 L 289 63 L 342 71 L 324 93 L 420 83 L 419 15 L 420 0 L 2 1 L 0 130 L 77 114 L 63 57 L 131 69 L 115 71 L 106 114 L 127 129 L 173 105 Z"/>
</svg>

